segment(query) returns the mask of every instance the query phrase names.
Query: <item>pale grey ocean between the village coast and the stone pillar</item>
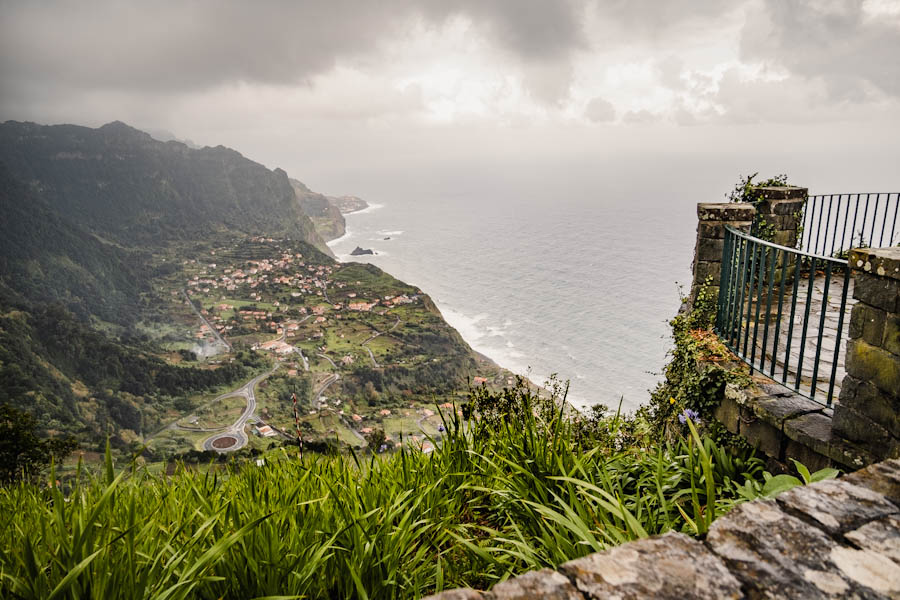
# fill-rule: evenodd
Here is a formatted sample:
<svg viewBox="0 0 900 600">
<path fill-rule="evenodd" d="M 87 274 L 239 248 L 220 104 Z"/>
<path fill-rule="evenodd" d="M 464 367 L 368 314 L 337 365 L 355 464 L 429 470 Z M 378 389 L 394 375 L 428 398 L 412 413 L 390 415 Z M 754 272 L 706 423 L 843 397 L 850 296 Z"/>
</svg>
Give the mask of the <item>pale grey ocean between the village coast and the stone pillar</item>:
<svg viewBox="0 0 900 600">
<path fill-rule="evenodd" d="M 659 381 L 690 284 L 690 202 L 410 195 L 346 219 L 329 244 L 341 261 L 420 287 L 475 350 L 536 383 L 568 380 L 576 406 L 631 411 Z"/>
</svg>

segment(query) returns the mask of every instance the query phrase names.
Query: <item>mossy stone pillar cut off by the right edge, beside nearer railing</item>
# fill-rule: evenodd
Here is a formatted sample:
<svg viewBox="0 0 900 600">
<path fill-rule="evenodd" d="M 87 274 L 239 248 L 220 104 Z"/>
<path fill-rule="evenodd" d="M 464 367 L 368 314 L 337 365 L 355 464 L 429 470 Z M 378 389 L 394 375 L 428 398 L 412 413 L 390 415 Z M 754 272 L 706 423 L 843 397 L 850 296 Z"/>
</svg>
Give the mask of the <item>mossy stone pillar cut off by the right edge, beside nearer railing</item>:
<svg viewBox="0 0 900 600">
<path fill-rule="evenodd" d="M 833 430 L 876 457 L 900 457 L 900 248 L 853 249 L 847 375 Z"/>
</svg>

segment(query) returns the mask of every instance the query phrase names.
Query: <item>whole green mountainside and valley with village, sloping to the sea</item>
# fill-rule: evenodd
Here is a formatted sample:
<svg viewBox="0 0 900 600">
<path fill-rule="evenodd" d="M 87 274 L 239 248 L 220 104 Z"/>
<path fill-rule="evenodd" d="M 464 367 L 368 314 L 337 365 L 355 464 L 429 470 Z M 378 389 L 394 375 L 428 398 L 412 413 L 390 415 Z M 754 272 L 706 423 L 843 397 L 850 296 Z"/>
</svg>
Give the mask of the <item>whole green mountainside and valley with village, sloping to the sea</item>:
<svg viewBox="0 0 900 600">
<path fill-rule="evenodd" d="M 451 397 L 471 377 L 506 381 L 421 290 L 335 262 L 304 214 L 343 224 L 331 197 L 234 150 L 118 122 L 7 122 L 0 209 L 0 404 L 83 448 L 109 435 L 125 452 L 152 446 L 152 460 L 196 449 L 208 434 L 177 422 L 197 410 L 227 421 L 236 407 L 209 409 L 213 399 L 276 364 L 257 413 L 285 430 L 285 394 L 305 390 L 323 444 L 337 430 L 344 444 L 362 438 L 316 404 L 329 378 L 329 396 L 362 413 L 359 429 L 386 431 L 421 427 L 431 417 L 410 403 Z M 214 335 L 228 348 L 210 354 L 225 345 Z M 279 336 L 289 356 L 264 347 Z"/>
</svg>

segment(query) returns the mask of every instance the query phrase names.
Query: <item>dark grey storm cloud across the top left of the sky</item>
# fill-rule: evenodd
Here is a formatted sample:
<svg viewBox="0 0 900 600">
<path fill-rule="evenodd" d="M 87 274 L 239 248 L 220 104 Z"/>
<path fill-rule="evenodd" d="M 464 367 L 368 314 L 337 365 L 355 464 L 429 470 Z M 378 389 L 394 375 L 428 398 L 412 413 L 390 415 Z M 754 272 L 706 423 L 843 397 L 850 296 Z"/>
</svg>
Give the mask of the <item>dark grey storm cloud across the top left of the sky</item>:
<svg viewBox="0 0 900 600">
<path fill-rule="evenodd" d="M 296 84 L 344 57 L 365 57 L 403 33 L 464 14 L 527 61 L 564 58 L 582 43 L 567 2 L 6 2 L 0 72 L 10 83 L 180 91 L 243 81 Z"/>
</svg>

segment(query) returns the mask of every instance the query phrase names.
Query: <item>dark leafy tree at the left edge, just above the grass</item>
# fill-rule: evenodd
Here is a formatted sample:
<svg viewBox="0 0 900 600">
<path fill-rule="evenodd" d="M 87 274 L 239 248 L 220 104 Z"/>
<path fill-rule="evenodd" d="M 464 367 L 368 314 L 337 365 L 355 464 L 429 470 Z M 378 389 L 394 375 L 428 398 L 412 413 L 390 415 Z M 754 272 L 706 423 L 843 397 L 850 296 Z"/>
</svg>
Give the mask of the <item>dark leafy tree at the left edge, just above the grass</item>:
<svg viewBox="0 0 900 600">
<path fill-rule="evenodd" d="M 36 430 L 33 416 L 8 404 L 0 405 L 0 483 L 33 479 L 51 460 L 61 461 L 78 447 L 72 436 L 42 440 Z"/>
</svg>

